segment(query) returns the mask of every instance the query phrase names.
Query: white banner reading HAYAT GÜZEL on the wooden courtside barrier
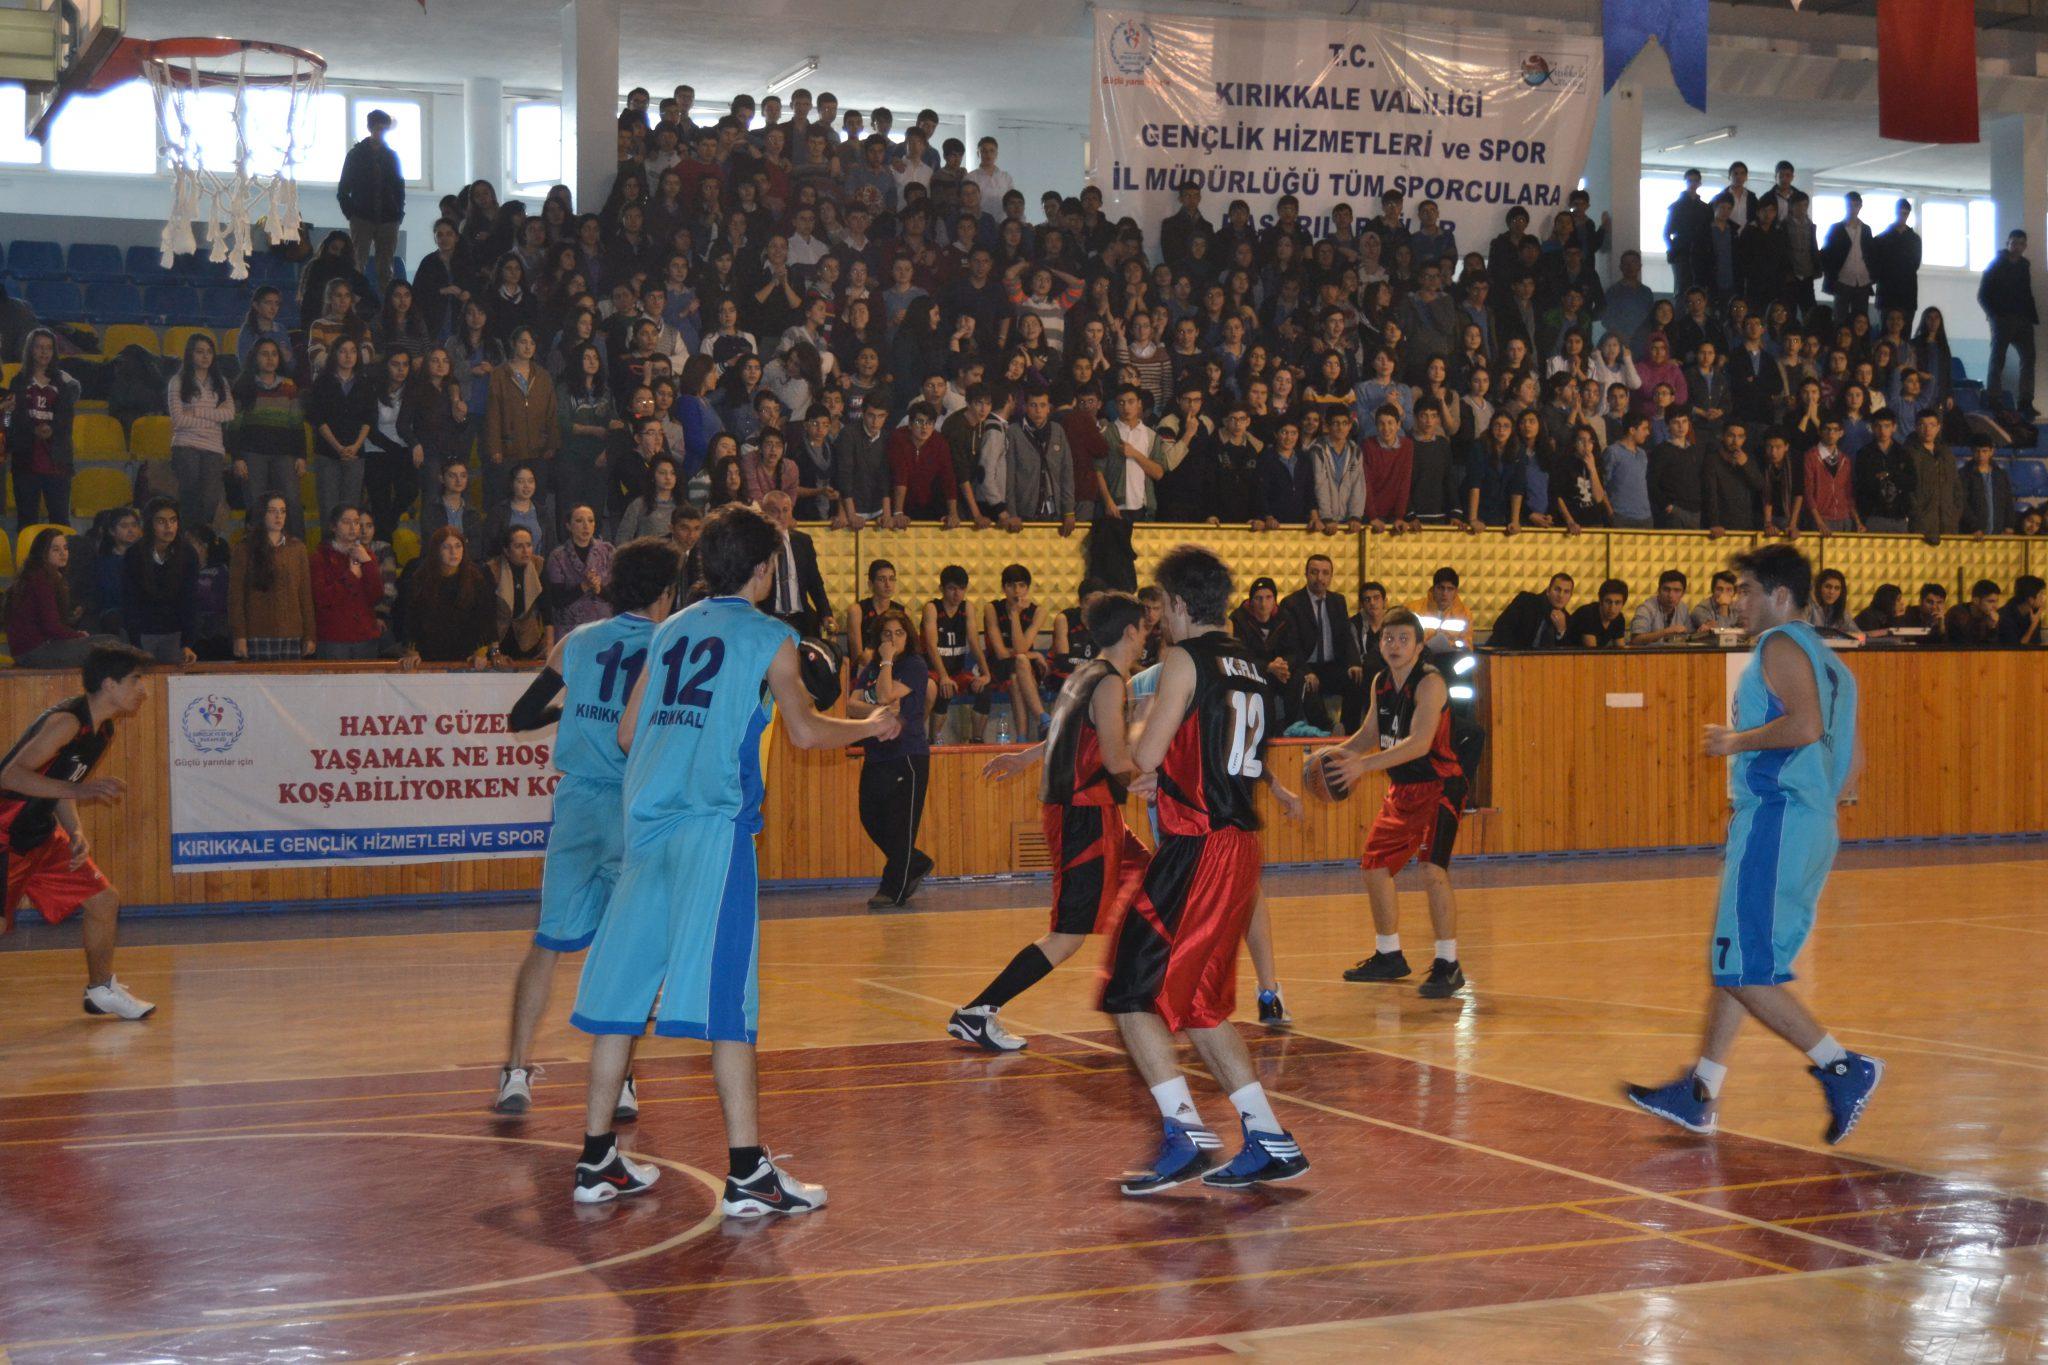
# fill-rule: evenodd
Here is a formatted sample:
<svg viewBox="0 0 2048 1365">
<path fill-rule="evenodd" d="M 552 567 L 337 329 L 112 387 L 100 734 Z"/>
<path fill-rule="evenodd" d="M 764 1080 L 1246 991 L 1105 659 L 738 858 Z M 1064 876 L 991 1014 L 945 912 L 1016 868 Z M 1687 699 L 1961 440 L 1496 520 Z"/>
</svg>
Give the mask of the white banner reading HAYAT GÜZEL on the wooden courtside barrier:
<svg viewBox="0 0 2048 1365">
<path fill-rule="evenodd" d="M 170 679 L 174 872 L 547 851 L 553 729 L 506 731 L 528 673 Z"/>
</svg>

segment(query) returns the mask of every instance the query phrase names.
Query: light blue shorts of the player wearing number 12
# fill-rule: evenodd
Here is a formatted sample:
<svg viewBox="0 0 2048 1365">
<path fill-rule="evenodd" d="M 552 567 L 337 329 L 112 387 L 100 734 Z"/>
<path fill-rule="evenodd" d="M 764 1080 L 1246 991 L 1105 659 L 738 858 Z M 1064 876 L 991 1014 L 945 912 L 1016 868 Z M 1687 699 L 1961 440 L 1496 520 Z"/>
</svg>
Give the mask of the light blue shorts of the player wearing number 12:
<svg viewBox="0 0 2048 1365">
<path fill-rule="evenodd" d="M 569 1023 L 586 1033 L 754 1042 L 760 896 L 754 835 L 723 817 L 676 821 L 629 847 L 584 958 Z"/>
</svg>

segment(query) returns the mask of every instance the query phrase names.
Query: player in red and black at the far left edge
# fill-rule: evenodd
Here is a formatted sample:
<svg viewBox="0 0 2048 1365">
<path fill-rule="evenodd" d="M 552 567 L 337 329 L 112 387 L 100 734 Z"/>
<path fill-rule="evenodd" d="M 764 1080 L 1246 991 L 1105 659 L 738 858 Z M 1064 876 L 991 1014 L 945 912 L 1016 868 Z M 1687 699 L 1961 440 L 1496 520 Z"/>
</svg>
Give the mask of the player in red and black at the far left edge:
<svg viewBox="0 0 2048 1365">
<path fill-rule="evenodd" d="M 117 1019 L 145 1019 L 156 1005 L 137 1001 L 115 980 L 121 898 L 92 866 L 76 802 L 115 800 L 127 790 L 115 778 L 94 778 L 92 769 L 113 743 L 115 720 L 141 710 L 150 663 L 150 655 L 127 645 L 94 647 L 82 669 L 84 696 L 45 710 L 0 757 L 0 833 L 6 841 L 0 923 L 14 927 L 14 907 L 23 898 L 53 925 L 82 913 L 86 1013 Z"/>
</svg>

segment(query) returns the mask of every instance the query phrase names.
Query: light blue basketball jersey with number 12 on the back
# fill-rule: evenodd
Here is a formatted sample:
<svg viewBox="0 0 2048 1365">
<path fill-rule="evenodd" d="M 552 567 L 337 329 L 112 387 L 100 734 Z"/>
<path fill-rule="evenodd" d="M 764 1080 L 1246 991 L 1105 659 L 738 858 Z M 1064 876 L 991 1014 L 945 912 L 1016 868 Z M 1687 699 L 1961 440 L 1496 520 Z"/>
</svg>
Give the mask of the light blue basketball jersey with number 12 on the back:
<svg viewBox="0 0 2048 1365">
<path fill-rule="evenodd" d="M 743 598 L 709 598 L 664 620 L 647 643 L 633 753 L 627 845 L 690 817 L 762 827 L 760 739 L 772 704 L 768 663 L 797 632 Z"/>
</svg>

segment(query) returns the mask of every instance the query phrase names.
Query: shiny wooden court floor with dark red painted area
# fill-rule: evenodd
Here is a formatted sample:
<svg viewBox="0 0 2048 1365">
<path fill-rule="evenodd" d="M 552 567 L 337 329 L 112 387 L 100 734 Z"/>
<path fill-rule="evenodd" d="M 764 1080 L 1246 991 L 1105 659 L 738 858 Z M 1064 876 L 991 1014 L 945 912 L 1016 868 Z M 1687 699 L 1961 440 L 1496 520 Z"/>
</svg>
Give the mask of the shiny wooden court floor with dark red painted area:
<svg viewBox="0 0 2048 1365">
<path fill-rule="evenodd" d="M 1298 1027 L 1245 1031 L 1315 1169 L 1143 1203 L 1108 1183 L 1155 1128 L 1092 958 L 1006 1011 L 1028 1052 L 940 1033 L 1042 884 L 778 896 L 766 1136 L 831 1205 L 774 1226 L 717 1218 L 705 1058 L 662 1040 L 629 1146 L 664 1183 L 569 1203 L 569 974 L 535 1111 L 487 1113 L 512 915 L 137 925 L 141 1025 L 80 1015 L 43 935 L 0 952 L 0 1361 L 2036 1361 L 2044 874 L 2038 845 L 1845 857 L 1802 988 L 1888 1070 L 1843 1148 L 1761 1036 L 1718 1138 L 1618 1103 L 1694 1056 L 1706 864 L 1485 872 L 1440 1003 L 1339 978 L 1370 952 L 1354 874 L 1276 874 Z M 1427 958 L 1417 898 L 1403 927 Z"/>
</svg>

